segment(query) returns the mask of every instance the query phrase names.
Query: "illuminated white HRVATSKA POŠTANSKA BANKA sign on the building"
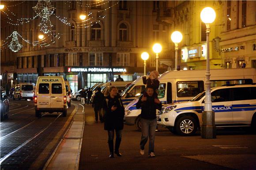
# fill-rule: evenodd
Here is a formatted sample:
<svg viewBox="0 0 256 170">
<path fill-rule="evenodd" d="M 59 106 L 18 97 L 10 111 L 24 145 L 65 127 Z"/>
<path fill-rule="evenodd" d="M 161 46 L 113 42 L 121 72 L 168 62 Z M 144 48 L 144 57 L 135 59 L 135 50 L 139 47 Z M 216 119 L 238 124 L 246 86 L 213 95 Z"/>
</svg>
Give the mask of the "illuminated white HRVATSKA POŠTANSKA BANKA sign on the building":
<svg viewBox="0 0 256 170">
<path fill-rule="evenodd" d="M 126 72 L 124 68 L 68 68 L 68 72 Z"/>
</svg>

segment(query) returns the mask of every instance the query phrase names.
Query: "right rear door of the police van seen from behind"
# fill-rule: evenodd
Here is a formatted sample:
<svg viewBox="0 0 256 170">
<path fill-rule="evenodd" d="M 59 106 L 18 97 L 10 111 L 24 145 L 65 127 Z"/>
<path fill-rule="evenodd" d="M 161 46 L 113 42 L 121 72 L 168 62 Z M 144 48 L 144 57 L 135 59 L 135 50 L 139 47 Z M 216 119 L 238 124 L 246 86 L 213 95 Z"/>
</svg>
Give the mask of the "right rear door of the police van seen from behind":
<svg viewBox="0 0 256 170">
<path fill-rule="evenodd" d="M 51 108 L 63 108 L 64 106 L 64 95 L 62 83 L 52 82 L 51 83 Z"/>
</svg>

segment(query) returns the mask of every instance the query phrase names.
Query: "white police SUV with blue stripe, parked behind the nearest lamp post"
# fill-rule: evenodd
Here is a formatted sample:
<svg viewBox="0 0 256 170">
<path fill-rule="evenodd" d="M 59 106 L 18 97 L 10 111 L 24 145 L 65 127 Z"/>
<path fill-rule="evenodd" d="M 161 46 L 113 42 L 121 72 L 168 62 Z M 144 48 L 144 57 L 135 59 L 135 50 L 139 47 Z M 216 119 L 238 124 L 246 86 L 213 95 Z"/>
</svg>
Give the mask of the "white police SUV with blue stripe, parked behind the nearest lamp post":
<svg viewBox="0 0 256 170">
<path fill-rule="evenodd" d="M 202 125 L 205 91 L 191 101 L 168 104 L 157 115 L 159 125 L 172 133 L 189 136 Z M 216 127 L 256 127 L 256 85 L 233 85 L 211 89 Z"/>
</svg>

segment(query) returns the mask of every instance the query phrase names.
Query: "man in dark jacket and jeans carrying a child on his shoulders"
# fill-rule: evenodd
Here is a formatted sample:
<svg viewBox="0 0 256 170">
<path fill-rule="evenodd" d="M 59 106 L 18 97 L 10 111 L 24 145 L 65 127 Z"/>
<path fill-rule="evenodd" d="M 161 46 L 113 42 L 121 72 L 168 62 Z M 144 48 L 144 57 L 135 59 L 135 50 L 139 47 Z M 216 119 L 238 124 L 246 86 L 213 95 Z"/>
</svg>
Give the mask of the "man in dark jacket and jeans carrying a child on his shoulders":
<svg viewBox="0 0 256 170">
<path fill-rule="evenodd" d="M 144 155 L 144 147 L 149 136 L 149 157 L 154 157 L 154 137 L 157 126 L 156 109 L 161 110 L 162 104 L 158 98 L 154 98 L 154 87 L 148 86 L 146 90 L 147 96 L 144 94 L 140 96 L 136 104 L 136 108 L 141 107 L 141 141 L 140 154 Z"/>
</svg>

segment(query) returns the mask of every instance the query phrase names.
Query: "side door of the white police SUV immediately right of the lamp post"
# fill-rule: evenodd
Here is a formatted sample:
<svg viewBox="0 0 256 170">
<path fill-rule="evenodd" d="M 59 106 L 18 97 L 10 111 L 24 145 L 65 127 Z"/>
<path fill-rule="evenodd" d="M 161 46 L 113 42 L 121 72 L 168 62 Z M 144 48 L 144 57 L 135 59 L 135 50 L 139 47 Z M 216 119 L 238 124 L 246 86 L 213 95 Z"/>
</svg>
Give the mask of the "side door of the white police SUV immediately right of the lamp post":
<svg viewBox="0 0 256 170">
<path fill-rule="evenodd" d="M 215 124 L 233 123 L 230 88 L 218 89 L 211 93 L 212 110 L 215 112 Z"/>
</svg>

